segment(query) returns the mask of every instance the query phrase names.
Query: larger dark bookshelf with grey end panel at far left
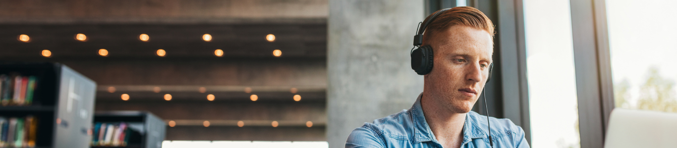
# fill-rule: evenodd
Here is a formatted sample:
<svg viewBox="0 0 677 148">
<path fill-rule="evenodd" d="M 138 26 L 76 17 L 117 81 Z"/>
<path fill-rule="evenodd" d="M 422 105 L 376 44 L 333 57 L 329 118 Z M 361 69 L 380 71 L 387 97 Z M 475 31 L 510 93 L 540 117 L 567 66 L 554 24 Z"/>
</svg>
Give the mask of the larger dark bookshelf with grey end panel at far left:
<svg viewBox="0 0 677 148">
<path fill-rule="evenodd" d="M 86 139 L 91 136 L 94 81 L 60 63 L 0 62 L 0 75 L 9 79 L 26 77 L 33 80 L 32 85 L 12 81 L 15 83 L 0 86 L 0 90 L 11 88 L 0 91 L 0 120 L 26 122 L 22 131 L 25 136 L 12 134 L 14 139 L 21 141 L 3 141 L 5 145 L 0 146 L 16 147 L 15 143 L 21 143 L 21 147 L 89 147 Z M 2 80 L 5 82 L 7 79 Z M 7 92 L 10 93 L 9 100 L 4 96 Z M 16 92 L 22 95 L 15 98 Z M 17 131 L 20 129 L 14 130 Z M 7 131 L 0 132 L 0 135 L 3 134 L 0 141 L 11 136 Z"/>
</svg>

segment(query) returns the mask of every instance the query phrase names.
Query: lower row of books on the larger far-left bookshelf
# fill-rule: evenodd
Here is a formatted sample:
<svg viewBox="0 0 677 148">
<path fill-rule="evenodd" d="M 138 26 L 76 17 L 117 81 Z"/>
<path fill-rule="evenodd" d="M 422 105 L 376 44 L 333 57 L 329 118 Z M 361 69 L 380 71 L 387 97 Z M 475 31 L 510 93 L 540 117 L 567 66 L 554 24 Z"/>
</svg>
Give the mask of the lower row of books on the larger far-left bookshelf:
<svg viewBox="0 0 677 148">
<path fill-rule="evenodd" d="M 37 118 L 0 116 L 0 147 L 35 147 Z"/>
</svg>

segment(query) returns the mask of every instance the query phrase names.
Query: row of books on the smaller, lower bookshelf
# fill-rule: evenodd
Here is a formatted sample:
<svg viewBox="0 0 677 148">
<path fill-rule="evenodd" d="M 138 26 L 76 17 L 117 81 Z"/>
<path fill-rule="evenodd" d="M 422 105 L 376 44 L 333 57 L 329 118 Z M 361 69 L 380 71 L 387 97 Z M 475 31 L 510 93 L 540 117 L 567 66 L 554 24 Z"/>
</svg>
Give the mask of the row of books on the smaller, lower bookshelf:
<svg viewBox="0 0 677 148">
<path fill-rule="evenodd" d="M 96 122 L 91 139 L 93 147 L 126 147 L 131 130 L 125 122 Z"/>
</svg>

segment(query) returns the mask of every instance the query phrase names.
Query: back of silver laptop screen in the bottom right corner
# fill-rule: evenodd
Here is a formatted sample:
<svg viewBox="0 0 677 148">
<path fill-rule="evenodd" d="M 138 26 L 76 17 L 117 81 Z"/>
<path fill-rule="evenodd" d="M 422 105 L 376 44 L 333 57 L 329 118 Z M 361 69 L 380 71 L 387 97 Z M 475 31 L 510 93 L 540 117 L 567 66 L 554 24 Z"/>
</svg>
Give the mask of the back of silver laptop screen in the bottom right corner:
<svg viewBox="0 0 677 148">
<path fill-rule="evenodd" d="M 604 147 L 677 147 L 677 113 L 616 108 Z"/>
</svg>

